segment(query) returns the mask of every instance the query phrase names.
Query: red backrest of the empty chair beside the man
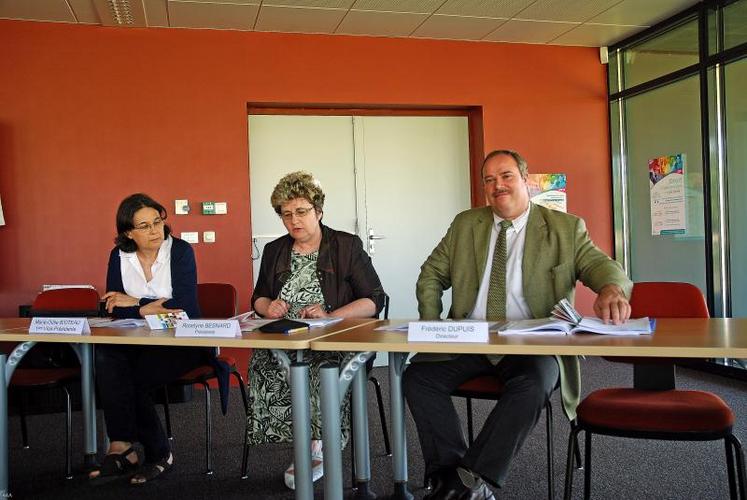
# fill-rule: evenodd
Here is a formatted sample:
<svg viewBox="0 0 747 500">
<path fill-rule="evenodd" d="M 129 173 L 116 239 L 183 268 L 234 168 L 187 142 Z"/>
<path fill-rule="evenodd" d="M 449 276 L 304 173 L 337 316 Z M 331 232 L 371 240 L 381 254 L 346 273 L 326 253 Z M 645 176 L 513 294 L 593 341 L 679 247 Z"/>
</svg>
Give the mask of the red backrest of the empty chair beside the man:
<svg viewBox="0 0 747 500">
<path fill-rule="evenodd" d="M 708 318 L 708 304 L 690 283 L 650 281 L 635 283 L 630 297 L 631 316 L 641 318 Z"/>
</svg>

